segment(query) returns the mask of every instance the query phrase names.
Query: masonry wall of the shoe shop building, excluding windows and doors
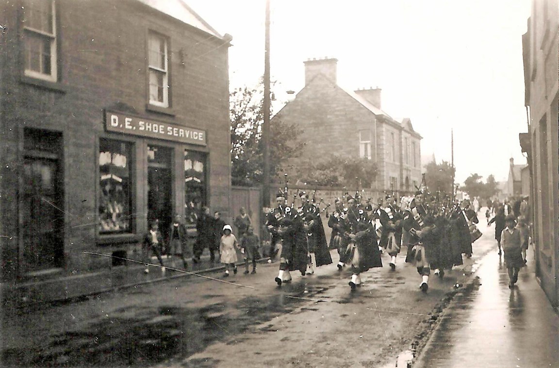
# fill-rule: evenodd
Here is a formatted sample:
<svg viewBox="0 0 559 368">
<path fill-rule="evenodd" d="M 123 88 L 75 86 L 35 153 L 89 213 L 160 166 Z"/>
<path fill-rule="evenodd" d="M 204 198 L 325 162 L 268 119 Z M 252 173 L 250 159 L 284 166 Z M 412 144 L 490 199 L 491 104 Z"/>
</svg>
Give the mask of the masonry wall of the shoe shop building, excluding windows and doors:
<svg viewBox="0 0 559 368">
<path fill-rule="evenodd" d="M 16 2 L 2 5 L 6 19 L 21 15 Z M 103 109 L 128 106 L 146 119 L 163 120 L 207 131 L 209 152 L 209 202 L 212 209 L 228 216 L 230 192 L 229 159 L 229 81 L 228 45 L 221 39 L 154 11 L 133 0 L 59 0 L 60 61 L 59 83 L 54 89 L 22 83 L 22 30 L 14 24 L 2 35 L 2 168 L 3 232 L 17 234 L 17 189 L 23 127 L 54 130 L 64 140 L 64 211 L 67 271 L 80 272 L 106 267 L 110 260 L 83 257 L 83 250 L 110 250 L 96 244 L 97 155 L 98 140 L 107 136 L 103 128 Z M 170 93 L 174 116 L 146 110 L 146 37 L 148 30 L 169 37 Z M 119 105 L 120 104 L 120 105 Z M 177 160 L 183 145 L 153 139 L 134 141 L 138 175 L 135 207 L 140 213 L 136 233 L 145 230 L 146 188 L 145 144 L 157 143 L 175 148 Z M 190 147 L 197 148 L 197 147 Z M 177 168 L 177 166 L 175 166 Z M 174 173 L 173 205 L 182 210 L 182 172 Z M 144 218 L 142 218 L 144 216 Z M 87 224 L 92 224 L 88 226 Z M 119 247 L 125 247 L 120 245 Z M 130 249 L 135 249 L 134 243 Z M 17 259 L 17 237 L 2 239 L 2 256 L 13 264 Z M 17 265 L 4 271 L 15 277 Z"/>
</svg>

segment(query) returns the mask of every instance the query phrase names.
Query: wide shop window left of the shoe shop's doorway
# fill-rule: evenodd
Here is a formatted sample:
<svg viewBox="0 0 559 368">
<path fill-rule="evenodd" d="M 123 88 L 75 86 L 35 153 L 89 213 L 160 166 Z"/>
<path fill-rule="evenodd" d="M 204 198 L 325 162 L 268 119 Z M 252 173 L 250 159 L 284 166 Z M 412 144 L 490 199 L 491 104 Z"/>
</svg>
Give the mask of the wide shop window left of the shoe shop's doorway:
<svg viewBox="0 0 559 368">
<path fill-rule="evenodd" d="M 99 232 L 132 232 L 132 144 L 99 141 Z"/>
</svg>

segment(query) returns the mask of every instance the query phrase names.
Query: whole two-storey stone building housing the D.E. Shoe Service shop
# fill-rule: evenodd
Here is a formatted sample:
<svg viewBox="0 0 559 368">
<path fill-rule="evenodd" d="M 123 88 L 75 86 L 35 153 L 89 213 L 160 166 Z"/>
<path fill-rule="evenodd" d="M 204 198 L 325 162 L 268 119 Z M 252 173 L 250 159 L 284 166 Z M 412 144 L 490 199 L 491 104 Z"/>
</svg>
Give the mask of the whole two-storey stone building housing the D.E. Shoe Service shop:
<svg viewBox="0 0 559 368">
<path fill-rule="evenodd" d="M 3 281 L 85 280 L 118 262 L 83 251 L 139 258 L 148 219 L 229 209 L 229 35 L 180 0 L 0 12 Z"/>
</svg>

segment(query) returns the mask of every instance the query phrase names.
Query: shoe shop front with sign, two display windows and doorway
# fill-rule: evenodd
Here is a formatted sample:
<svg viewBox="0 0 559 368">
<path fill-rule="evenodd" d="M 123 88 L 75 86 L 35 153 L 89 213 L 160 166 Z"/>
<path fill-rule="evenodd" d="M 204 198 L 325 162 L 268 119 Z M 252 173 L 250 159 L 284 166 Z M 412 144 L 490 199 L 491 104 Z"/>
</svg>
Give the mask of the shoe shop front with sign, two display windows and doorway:
<svg viewBox="0 0 559 368">
<path fill-rule="evenodd" d="M 104 120 L 98 243 L 119 254 L 139 254 L 130 249 L 138 250 L 149 221 L 158 220 L 167 238 L 175 214 L 193 229 L 208 204 L 206 131 L 110 110 Z"/>
</svg>

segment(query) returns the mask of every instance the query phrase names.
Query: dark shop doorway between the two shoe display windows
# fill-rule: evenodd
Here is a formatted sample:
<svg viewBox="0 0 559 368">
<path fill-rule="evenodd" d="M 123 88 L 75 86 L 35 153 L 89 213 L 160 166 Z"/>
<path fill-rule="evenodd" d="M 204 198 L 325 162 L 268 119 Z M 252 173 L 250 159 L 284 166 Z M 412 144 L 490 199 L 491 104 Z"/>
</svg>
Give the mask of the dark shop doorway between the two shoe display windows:
<svg viewBox="0 0 559 368">
<path fill-rule="evenodd" d="M 164 239 L 173 216 L 171 158 L 171 149 L 148 145 L 148 220 L 159 220 Z"/>
</svg>

